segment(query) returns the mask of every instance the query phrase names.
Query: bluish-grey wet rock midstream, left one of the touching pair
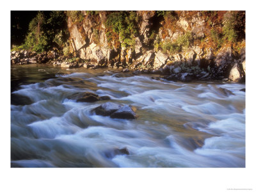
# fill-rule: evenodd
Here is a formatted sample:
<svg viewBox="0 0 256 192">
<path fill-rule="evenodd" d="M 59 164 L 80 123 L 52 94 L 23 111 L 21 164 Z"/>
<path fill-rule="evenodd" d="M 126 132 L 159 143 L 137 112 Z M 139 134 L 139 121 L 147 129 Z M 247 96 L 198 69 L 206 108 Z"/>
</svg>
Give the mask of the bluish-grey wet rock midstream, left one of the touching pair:
<svg viewBox="0 0 256 192">
<path fill-rule="evenodd" d="M 113 102 L 106 102 L 101 106 L 95 108 L 93 111 L 95 111 L 97 115 L 109 116 L 120 108 L 122 108 L 122 105 L 120 104 L 115 104 Z"/>
</svg>

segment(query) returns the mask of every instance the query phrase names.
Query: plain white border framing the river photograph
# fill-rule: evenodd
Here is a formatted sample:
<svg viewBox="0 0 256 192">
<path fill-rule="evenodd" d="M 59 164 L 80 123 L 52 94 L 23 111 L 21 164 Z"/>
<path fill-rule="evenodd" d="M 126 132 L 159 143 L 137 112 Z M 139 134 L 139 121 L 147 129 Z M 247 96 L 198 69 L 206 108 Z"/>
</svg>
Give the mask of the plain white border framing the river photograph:
<svg viewBox="0 0 256 192">
<path fill-rule="evenodd" d="M 248 1 L 249 2 L 249 1 Z M 252 2 L 252 1 L 250 1 Z M 1 191 L 255 191 L 255 6 L 246 1 L 6 1 L 1 5 Z M 246 10 L 246 168 L 10 168 L 10 10 Z M 241 190 L 239 190 L 241 191 Z"/>
</svg>

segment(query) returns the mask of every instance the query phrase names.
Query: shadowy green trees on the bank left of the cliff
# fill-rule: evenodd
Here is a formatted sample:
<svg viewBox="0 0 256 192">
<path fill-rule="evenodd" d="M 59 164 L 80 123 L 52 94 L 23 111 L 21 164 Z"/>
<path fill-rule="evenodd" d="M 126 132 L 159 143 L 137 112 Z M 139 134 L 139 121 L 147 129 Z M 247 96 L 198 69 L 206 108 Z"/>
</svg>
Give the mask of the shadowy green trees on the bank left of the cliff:
<svg viewBox="0 0 256 192">
<path fill-rule="evenodd" d="M 24 43 L 13 47 L 12 50 L 25 49 L 40 53 L 49 49 L 67 49 L 68 36 L 65 12 L 38 12 L 36 17 L 29 22 Z"/>
</svg>

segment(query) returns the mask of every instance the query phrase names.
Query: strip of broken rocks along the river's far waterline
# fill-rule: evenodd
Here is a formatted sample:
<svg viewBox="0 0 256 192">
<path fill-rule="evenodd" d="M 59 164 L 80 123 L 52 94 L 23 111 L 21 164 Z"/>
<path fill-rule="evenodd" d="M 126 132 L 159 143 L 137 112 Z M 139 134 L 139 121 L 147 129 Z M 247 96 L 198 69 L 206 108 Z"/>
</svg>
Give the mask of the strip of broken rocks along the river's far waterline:
<svg viewBox="0 0 256 192">
<path fill-rule="evenodd" d="M 223 59 L 223 58 L 222 58 Z M 227 58 L 224 58 L 227 59 Z M 239 62 L 239 61 L 238 61 Z M 93 63 L 90 61 L 76 58 L 76 60 L 68 60 L 67 57 L 61 56 L 58 51 L 48 51 L 36 54 L 35 51 L 12 51 L 11 52 L 11 64 L 12 65 L 26 65 L 26 64 L 50 64 L 63 68 L 112 68 L 118 69 L 122 72 L 132 72 L 134 75 L 138 74 L 158 74 L 168 81 L 182 81 L 191 82 L 196 80 L 222 80 L 222 81 L 235 81 L 239 83 L 245 82 L 245 60 L 241 63 L 235 63 L 231 68 L 228 76 L 216 76 L 213 73 L 214 70 L 204 70 L 199 67 L 182 68 L 178 65 L 165 64 L 161 68 L 139 68 L 139 67 L 124 67 L 122 63 L 116 63 L 111 65 L 100 65 L 99 63 Z M 218 69 L 217 69 L 218 70 Z M 159 79 L 159 77 L 152 77 Z"/>
</svg>

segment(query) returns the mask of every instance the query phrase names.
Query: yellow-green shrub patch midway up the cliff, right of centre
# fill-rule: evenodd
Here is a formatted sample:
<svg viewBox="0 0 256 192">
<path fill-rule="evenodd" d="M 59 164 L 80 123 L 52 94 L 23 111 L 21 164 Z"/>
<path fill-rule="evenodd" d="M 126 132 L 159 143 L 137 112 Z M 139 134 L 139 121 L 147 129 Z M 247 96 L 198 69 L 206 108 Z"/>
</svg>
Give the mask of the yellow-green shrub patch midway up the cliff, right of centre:
<svg viewBox="0 0 256 192">
<path fill-rule="evenodd" d="M 190 32 L 187 32 L 186 34 L 179 36 L 175 42 L 164 42 L 162 49 L 164 52 L 169 51 L 170 54 L 175 54 L 181 52 L 183 48 L 188 48 L 192 42 L 193 37 Z"/>
</svg>

